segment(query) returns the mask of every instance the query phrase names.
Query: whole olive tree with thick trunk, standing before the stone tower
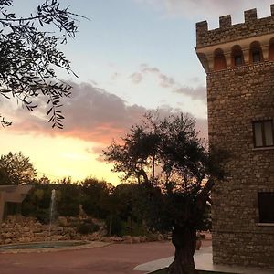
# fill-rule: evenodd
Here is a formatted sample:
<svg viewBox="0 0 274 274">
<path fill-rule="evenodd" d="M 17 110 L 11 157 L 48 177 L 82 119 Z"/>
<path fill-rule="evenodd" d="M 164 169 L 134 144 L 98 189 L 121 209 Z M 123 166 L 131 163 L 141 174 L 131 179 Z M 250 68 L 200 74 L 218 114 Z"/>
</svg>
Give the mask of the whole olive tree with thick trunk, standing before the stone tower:
<svg viewBox="0 0 274 274">
<path fill-rule="evenodd" d="M 147 114 L 121 142 L 111 142 L 104 155 L 124 180 L 135 178 L 145 187 L 146 223 L 172 230 L 175 257 L 168 273 L 197 273 L 196 230 L 203 226 L 215 179 L 224 174 L 221 154 L 206 148 L 195 120 L 183 113 L 163 119 Z"/>
</svg>

